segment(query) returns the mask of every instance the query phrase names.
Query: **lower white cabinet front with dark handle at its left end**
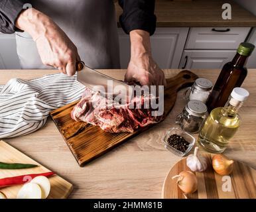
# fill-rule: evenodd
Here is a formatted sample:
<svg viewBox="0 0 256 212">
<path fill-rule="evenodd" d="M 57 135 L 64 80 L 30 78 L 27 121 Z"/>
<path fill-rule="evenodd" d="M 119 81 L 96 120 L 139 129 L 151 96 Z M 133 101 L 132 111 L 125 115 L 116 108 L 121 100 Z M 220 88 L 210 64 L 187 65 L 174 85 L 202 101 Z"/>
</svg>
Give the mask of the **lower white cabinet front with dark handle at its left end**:
<svg viewBox="0 0 256 212">
<path fill-rule="evenodd" d="M 236 50 L 184 50 L 179 68 L 221 69 L 235 53 Z"/>
</svg>

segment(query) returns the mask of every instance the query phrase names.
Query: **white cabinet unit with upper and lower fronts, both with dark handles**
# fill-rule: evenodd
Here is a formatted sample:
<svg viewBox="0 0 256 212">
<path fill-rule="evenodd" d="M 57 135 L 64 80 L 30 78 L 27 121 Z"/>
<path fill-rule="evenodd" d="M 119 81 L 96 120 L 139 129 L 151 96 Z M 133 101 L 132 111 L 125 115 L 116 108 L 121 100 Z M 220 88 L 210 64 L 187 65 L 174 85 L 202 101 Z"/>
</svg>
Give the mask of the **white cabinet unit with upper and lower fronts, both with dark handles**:
<svg viewBox="0 0 256 212">
<path fill-rule="evenodd" d="M 179 68 L 218 69 L 231 61 L 250 27 L 192 27 Z"/>
</svg>

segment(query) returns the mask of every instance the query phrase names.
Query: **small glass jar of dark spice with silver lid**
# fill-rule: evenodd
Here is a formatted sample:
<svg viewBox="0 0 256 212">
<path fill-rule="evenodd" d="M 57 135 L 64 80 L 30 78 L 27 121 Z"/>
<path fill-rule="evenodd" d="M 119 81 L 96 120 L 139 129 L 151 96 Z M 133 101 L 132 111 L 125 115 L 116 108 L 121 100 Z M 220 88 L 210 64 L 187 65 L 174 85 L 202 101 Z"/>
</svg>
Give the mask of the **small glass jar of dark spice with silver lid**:
<svg viewBox="0 0 256 212">
<path fill-rule="evenodd" d="M 176 124 L 180 125 L 183 131 L 196 133 L 199 132 L 206 119 L 207 107 L 202 101 L 188 101 L 182 113 L 176 117 Z"/>
</svg>

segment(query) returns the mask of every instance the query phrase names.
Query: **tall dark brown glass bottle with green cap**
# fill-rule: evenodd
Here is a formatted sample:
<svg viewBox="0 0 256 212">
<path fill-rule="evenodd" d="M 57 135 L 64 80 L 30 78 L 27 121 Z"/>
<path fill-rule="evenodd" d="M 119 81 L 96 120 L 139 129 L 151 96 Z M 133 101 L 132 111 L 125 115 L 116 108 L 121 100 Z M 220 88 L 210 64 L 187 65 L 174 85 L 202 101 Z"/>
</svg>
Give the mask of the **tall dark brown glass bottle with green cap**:
<svg viewBox="0 0 256 212">
<path fill-rule="evenodd" d="M 216 107 L 224 107 L 233 88 L 241 86 L 247 76 L 247 68 L 245 67 L 247 58 L 254 48 L 253 44 L 242 42 L 237 48 L 237 54 L 233 60 L 224 65 L 206 102 L 209 113 Z"/>
</svg>

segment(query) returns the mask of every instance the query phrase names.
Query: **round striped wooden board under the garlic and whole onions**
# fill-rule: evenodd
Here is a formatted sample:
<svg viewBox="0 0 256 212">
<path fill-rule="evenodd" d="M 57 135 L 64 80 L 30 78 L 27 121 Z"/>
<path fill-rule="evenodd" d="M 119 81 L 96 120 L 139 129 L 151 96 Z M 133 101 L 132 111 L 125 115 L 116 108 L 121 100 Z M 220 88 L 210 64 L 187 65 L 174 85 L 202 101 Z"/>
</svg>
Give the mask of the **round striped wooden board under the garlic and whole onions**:
<svg viewBox="0 0 256 212">
<path fill-rule="evenodd" d="M 213 155 L 206 154 L 209 163 Z M 162 186 L 163 199 L 185 199 L 182 191 L 172 180 L 172 176 L 190 168 L 186 166 L 186 158 L 177 162 L 168 172 Z M 198 191 L 189 194 L 189 199 L 255 199 L 256 198 L 256 171 L 242 162 L 235 161 L 233 172 L 230 174 L 231 191 L 223 191 L 222 185 L 227 182 L 208 166 L 205 172 L 196 172 Z M 224 180 L 224 181 L 222 181 Z M 225 186 L 224 186 L 225 187 Z"/>
</svg>

